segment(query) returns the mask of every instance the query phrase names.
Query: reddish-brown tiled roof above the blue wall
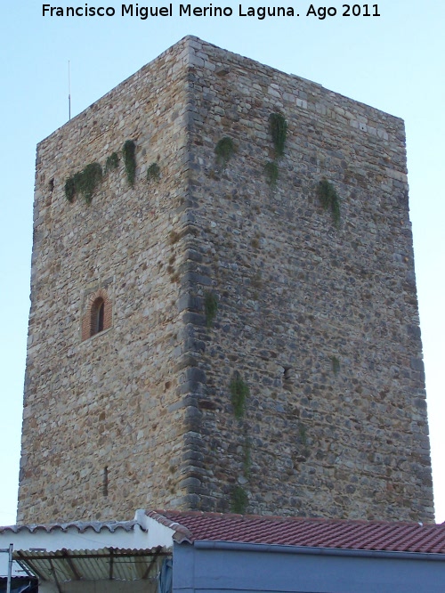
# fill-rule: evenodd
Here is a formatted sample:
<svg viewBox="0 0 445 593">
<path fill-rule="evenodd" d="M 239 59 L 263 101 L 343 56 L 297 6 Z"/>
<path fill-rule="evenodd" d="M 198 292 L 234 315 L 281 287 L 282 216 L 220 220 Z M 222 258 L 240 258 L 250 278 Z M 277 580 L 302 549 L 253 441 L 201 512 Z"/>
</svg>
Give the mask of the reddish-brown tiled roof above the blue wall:
<svg viewBox="0 0 445 593">
<path fill-rule="evenodd" d="M 188 511 L 147 515 L 181 543 L 197 540 L 249 544 L 445 554 L 445 524 L 249 516 Z"/>
</svg>

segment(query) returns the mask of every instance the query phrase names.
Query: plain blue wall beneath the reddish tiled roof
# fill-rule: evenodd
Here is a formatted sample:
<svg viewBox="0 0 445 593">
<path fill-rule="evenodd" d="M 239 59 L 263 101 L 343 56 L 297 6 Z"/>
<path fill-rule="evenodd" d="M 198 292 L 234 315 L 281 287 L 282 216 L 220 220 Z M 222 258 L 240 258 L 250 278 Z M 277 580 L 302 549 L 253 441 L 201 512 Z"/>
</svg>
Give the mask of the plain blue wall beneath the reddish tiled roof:
<svg viewBox="0 0 445 593">
<path fill-rule="evenodd" d="M 282 550 L 281 547 L 277 547 L 277 551 L 258 551 L 175 545 L 174 593 L 445 591 L 445 558 L 434 561 L 299 554 L 279 551 L 279 548 Z"/>
</svg>

